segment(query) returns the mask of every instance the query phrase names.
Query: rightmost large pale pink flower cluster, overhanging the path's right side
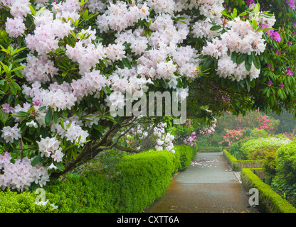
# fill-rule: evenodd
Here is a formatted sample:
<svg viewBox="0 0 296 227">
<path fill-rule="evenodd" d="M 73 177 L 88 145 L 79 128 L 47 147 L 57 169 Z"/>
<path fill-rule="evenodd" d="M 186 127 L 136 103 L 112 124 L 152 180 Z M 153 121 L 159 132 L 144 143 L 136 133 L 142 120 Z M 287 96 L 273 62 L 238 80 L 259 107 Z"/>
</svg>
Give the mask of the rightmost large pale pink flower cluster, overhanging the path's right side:
<svg viewBox="0 0 296 227">
<path fill-rule="evenodd" d="M 250 55 L 251 52 L 260 54 L 265 50 L 263 32 L 255 32 L 250 23 L 242 21 L 239 17 L 228 21 L 228 30 L 220 38 L 213 38 L 203 47 L 203 55 L 210 55 L 218 59 L 217 73 L 220 77 L 240 81 L 247 76 L 250 79 L 259 77 L 260 70 L 252 64 L 250 71 L 245 69 L 245 62 L 236 64 L 231 60 L 228 51 L 240 52 Z M 232 77 L 234 75 L 234 77 Z"/>
</svg>

